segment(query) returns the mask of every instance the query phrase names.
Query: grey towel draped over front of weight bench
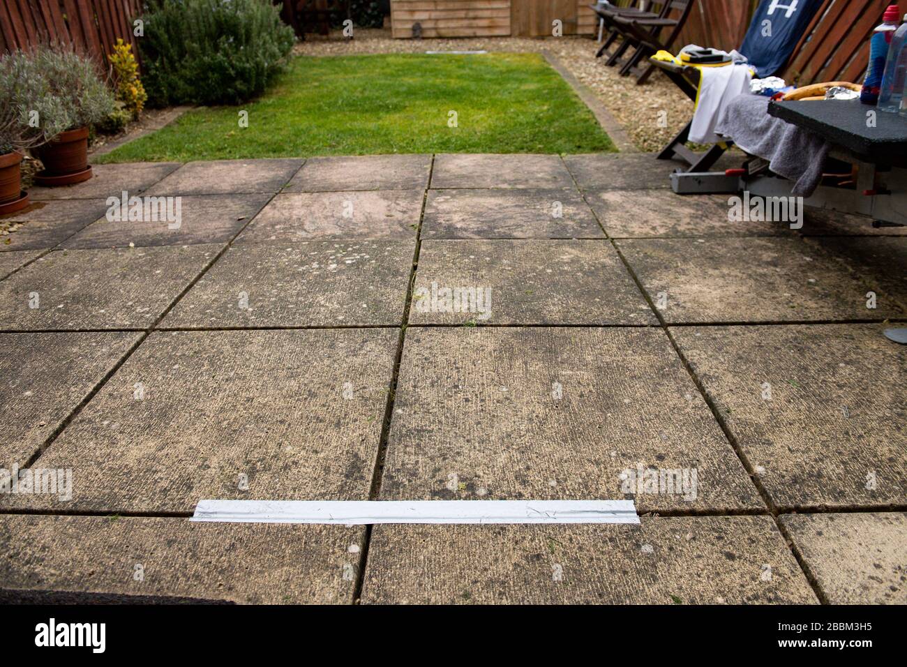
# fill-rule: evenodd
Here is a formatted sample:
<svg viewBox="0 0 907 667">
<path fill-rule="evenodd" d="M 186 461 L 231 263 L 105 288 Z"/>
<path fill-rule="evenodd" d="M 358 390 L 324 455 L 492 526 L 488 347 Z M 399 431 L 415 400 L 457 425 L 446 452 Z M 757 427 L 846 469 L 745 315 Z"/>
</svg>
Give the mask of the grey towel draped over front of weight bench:
<svg viewBox="0 0 907 667">
<path fill-rule="evenodd" d="M 715 131 L 768 160 L 769 169 L 794 181 L 791 194 L 808 197 L 822 180 L 829 144 L 813 132 L 768 115 L 769 101 L 763 95 L 737 95 L 727 104 Z"/>
</svg>

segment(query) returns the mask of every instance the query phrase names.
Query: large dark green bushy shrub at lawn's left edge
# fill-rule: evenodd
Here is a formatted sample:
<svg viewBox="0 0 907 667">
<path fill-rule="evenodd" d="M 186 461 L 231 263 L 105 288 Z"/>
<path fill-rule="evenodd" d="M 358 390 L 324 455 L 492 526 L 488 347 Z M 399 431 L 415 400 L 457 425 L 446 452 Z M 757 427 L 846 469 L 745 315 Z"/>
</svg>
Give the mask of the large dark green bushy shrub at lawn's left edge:
<svg viewBox="0 0 907 667">
<path fill-rule="evenodd" d="M 152 0 L 142 19 L 145 87 L 159 106 L 245 102 L 293 48 L 270 0 Z"/>
</svg>

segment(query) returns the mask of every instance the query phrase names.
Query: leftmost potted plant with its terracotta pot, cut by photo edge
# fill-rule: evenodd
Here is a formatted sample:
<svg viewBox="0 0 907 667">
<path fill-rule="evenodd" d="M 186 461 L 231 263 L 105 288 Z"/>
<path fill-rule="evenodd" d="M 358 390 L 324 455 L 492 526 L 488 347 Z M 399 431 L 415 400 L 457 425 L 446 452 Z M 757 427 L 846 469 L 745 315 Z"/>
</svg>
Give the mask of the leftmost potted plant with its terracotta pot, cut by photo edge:
<svg viewBox="0 0 907 667">
<path fill-rule="evenodd" d="M 49 141 L 68 123 L 34 54 L 0 55 L 0 215 L 28 206 L 20 169 L 24 151 Z"/>
</svg>

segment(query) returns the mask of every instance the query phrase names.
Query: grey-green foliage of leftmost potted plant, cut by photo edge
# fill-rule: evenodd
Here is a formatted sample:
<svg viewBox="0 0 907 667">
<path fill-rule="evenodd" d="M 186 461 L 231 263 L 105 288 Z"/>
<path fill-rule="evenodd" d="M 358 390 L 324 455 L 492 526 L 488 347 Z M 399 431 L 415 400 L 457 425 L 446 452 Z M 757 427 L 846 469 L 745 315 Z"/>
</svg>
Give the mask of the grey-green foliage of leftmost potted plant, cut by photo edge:
<svg viewBox="0 0 907 667">
<path fill-rule="evenodd" d="M 49 142 L 71 123 L 34 53 L 0 55 L 0 154 Z"/>
</svg>

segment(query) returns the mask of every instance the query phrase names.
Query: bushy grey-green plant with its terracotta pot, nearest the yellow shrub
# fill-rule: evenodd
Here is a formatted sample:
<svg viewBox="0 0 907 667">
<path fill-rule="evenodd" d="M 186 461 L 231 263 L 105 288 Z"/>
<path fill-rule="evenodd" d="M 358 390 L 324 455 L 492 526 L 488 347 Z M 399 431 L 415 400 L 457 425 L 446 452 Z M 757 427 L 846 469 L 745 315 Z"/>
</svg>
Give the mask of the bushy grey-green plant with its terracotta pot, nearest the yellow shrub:
<svg viewBox="0 0 907 667">
<path fill-rule="evenodd" d="M 92 177 L 88 165 L 88 131 L 115 109 L 112 91 L 87 57 L 57 47 L 34 52 L 35 62 L 62 106 L 66 125 L 35 153 L 44 171 L 35 174 L 38 185 L 72 185 Z"/>
</svg>

